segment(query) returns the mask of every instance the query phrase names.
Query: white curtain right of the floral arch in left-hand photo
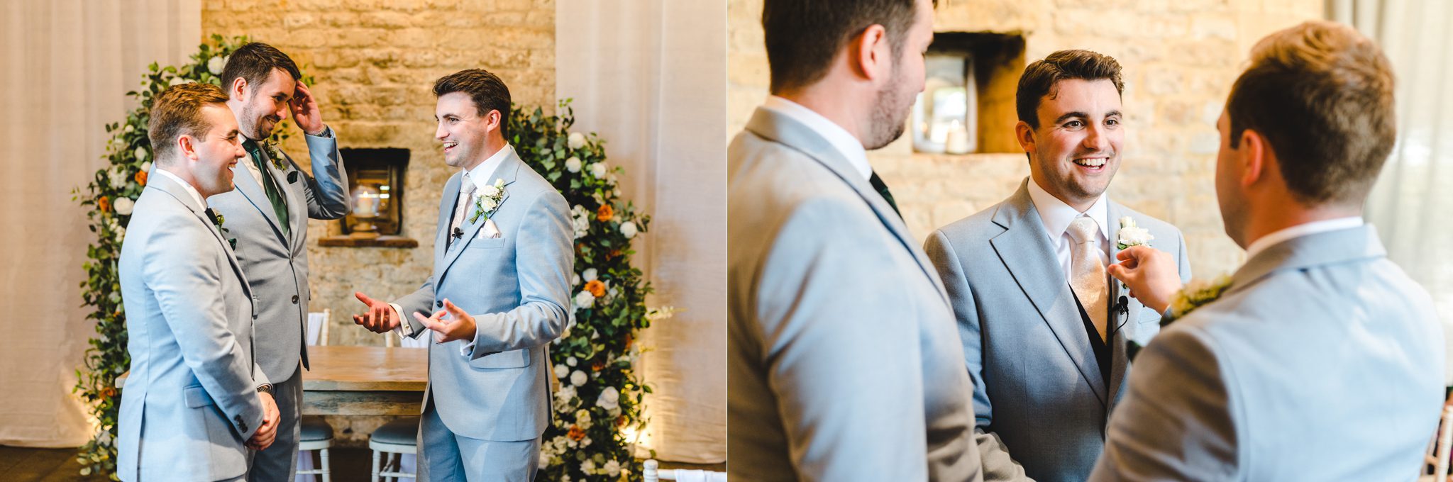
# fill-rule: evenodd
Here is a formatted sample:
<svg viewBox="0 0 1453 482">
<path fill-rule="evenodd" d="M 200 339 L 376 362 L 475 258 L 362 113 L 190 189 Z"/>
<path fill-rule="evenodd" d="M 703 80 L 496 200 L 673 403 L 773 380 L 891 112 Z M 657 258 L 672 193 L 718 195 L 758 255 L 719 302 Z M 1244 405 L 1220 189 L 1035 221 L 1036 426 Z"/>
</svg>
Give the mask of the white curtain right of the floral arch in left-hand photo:
<svg viewBox="0 0 1453 482">
<path fill-rule="evenodd" d="M 726 3 L 559 0 L 555 89 L 575 129 L 607 139 L 628 199 L 651 215 L 635 263 L 679 306 L 642 343 L 644 449 L 726 460 Z M 639 454 L 639 453 L 638 453 Z"/>
</svg>

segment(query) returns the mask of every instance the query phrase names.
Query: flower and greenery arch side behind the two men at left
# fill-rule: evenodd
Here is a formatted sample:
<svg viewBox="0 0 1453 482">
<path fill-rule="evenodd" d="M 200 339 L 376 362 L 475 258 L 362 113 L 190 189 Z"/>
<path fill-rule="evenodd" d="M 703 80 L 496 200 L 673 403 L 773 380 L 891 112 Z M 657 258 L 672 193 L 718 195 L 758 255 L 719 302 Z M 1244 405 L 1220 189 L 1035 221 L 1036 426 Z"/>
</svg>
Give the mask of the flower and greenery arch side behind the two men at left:
<svg viewBox="0 0 1453 482">
<path fill-rule="evenodd" d="M 212 35 L 209 42 L 198 46 L 189 64 L 161 67 L 153 62 L 141 89 L 126 93 L 138 100 L 138 106 L 124 122 L 106 125 L 106 132 L 110 134 L 105 155 L 108 167 L 97 170 L 84 189 L 73 190 L 73 199 L 89 208 L 86 218 L 90 231 L 96 234 L 96 241 L 86 247 L 87 260 L 81 266 L 87 274 L 81 282 L 81 298 L 92 308 L 87 318 L 96 321 L 96 337 L 86 350 L 84 369 L 76 370 L 78 382 L 73 389 L 90 405 L 90 417 L 96 425 L 96 436 L 77 454 L 83 476 L 108 473 L 116 479 L 116 415 L 121 408 L 116 376 L 131 366 L 131 356 L 126 353 L 126 311 L 121 302 L 116 261 L 131 211 L 151 176 L 151 141 L 147 138 L 151 102 L 176 84 L 221 86 L 218 75 L 227 65 L 227 57 L 247 42 L 246 36 L 224 39 Z M 312 84 L 308 75 L 304 75 L 304 81 Z M 270 142 L 285 139 L 286 131 L 286 126 L 276 129 Z"/>
</svg>

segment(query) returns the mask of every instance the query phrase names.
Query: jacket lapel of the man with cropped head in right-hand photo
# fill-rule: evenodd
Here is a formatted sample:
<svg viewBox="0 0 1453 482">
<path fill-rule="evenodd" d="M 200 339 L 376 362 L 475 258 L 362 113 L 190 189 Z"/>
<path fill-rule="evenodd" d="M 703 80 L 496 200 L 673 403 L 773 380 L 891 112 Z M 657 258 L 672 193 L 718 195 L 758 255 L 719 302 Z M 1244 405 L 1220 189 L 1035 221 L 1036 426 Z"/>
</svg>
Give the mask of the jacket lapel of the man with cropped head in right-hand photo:
<svg viewBox="0 0 1453 482">
<path fill-rule="evenodd" d="M 827 142 L 827 139 L 814 132 L 811 128 L 763 107 L 757 107 L 757 112 L 753 113 L 751 120 L 747 122 L 747 131 L 806 154 L 847 183 L 853 192 L 856 192 L 857 196 L 867 203 L 873 213 L 878 215 L 878 221 L 882 222 L 883 226 L 886 226 L 888 231 L 898 238 L 898 242 L 908 250 L 910 256 L 914 257 L 914 261 L 918 263 L 918 269 L 928 276 L 934 289 L 939 290 L 939 298 L 943 299 L 944 303 L 949 303 L 949 295 L 943 287 L 943 282 L 939 280 L 937 270 L 933 269 L 927 256 L 917 248 L 918 244 L 908 234 L 908 226 L 904 224 L 902 216 L 899 216 L 892 206 L 888 206 L 883 196 L 878 195 L 878 190 L 873 189 L 866 179 L 863 179 L 862 173 L 854 170 L 851 164 L 849 164 L 849 161 Z"/>
</svg>

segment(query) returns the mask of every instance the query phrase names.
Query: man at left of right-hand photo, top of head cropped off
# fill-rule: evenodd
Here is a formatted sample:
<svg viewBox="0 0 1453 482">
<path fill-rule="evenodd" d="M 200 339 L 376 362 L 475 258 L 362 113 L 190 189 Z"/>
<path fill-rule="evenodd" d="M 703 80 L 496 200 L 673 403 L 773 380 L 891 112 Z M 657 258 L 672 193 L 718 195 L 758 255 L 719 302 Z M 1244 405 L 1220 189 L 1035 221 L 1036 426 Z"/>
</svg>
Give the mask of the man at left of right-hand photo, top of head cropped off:
<svg viewBox="0 0 1453 482">
<path fill-rule="evenodd" d="M 979 481 L 943 286 L 865 150 L 923 90 L 928 0 L 769 0 L 728 148 L 728 476 Z"/>
</svg>

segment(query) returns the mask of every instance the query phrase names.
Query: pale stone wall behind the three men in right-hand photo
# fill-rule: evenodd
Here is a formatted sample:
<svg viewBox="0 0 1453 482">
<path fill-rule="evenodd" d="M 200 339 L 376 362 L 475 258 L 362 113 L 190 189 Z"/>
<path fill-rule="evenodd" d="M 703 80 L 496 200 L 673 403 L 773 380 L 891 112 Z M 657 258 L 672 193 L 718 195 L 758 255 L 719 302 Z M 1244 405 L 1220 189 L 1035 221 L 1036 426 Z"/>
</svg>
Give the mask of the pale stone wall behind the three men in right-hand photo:
<svg viewBox="0 0 1453 482">
<path fill-rule="evenodd" d="M 728 115 L 734 134 L 767 94 L 761 0 L 729 0 Z M 1215 195 L 1221 115 L 1247 51 L 1261 36 L 1324 16 L 1321 0 L 950 0 L 936 32 L 1020 32 L 1026 60 L 1093 49 L 1125 68 L 1126 139 L 1110 196 L 1186 234 L 1196 277 L 1231 271 L 1242 251 L 1222 231 Z M 908 229 L 989 208 L 1029 176 L 1023 154 L 914 154 L 907 136 L 869 154 Z"/>
</svg>

